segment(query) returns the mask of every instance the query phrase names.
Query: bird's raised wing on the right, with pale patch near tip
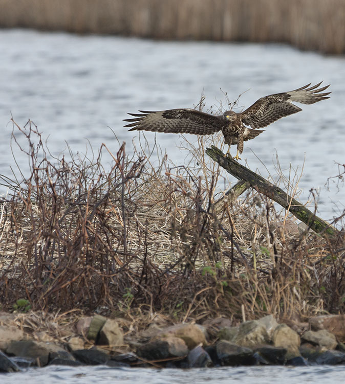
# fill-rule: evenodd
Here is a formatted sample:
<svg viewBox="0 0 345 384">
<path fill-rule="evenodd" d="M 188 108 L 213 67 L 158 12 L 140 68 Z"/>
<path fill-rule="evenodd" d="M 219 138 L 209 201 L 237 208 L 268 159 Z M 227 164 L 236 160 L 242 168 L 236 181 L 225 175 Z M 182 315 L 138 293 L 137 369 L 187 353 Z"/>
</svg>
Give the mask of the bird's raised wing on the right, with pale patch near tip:
<svg viewBox="0 0 345 384">
<path fill-rule="evenodd" d="M 294 89 L 294 91 L 262 97 L 242 112 L 242 121 L 252 128 L 266 127 L 284 116 L 296 114 L 302 110 L 292 104 L 293 101 L 302 104 L 314 104 L 320 100 L 329 99 L 327 95 L 331 92 L 320 94 L 329 85 L 318 88 L 321 83 L 322 81 L 311 87 L 309 87 L 311 84 L 309 83 L 301 88 Z"/>
</svg>

